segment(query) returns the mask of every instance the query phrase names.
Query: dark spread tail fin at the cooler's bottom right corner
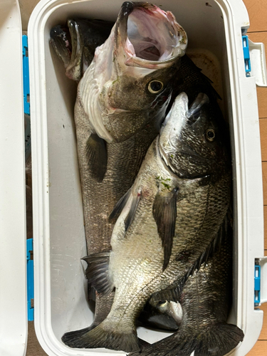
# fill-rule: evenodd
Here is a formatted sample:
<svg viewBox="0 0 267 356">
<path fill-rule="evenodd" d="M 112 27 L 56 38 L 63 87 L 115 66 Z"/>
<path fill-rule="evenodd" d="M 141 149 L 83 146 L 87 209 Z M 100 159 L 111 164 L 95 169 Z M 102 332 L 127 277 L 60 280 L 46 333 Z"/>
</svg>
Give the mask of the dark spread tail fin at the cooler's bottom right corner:
<svg viewBox="0 0 267 356">
<path fill-rule="evenodd" d="M 131 352 L 128 356 L 224 356 L 244 338 L 236 325 L 213 323 L 199 335 L 189 330 L 177 331 L 163 340 L 144 347 L 142 352 Z M 193 353 L 194 352 L 194 353 Z"/>
</svg>

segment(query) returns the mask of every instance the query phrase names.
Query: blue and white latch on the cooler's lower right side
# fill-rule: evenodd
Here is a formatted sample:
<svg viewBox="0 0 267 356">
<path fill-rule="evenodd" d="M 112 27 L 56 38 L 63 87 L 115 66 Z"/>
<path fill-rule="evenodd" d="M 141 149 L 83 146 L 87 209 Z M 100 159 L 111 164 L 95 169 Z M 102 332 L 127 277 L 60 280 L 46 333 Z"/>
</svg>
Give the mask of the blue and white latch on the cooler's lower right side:
<svg viewBox="0 0 267 356">
<path fill-rule="evenodd" d="M 258 307 L 262 303 L 267 302 L 267 256 L 256 258 L 254 271 L 254 305 Z"/>
</svg>

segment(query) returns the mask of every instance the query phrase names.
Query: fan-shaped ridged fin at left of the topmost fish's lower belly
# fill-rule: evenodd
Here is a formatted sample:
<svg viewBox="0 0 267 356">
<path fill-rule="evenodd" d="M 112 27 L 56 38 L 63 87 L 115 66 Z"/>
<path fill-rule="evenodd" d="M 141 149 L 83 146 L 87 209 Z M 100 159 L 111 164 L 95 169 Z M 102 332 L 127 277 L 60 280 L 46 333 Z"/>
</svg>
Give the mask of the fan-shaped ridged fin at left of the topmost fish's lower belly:
<svg viewBox="0 0 267 356">
<path fill-rule="evenodd" d="M 99 293 L 110 294 L 114 288 L 108 276 L 110 252 L 92 253 L 82 259 L 88 264 L 85 271 L 88 283 Z"/>
</svg>

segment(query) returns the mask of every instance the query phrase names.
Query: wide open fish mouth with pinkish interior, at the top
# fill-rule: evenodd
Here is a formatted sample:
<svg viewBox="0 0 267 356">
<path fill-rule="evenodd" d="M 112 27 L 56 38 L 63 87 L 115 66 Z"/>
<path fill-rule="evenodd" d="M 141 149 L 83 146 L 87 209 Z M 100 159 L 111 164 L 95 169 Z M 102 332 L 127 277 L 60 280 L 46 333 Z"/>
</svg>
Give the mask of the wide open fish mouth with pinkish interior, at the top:
<svg viewBox="0 0 267 356">
<path fill-rule="evenodd" d="M 187 34 L 170 11 L 126 1 L 117 19 L 115 43 L 117 48 L 122 46 L 127 66 L 151 68 L 183 56 Z"/>
</svg>

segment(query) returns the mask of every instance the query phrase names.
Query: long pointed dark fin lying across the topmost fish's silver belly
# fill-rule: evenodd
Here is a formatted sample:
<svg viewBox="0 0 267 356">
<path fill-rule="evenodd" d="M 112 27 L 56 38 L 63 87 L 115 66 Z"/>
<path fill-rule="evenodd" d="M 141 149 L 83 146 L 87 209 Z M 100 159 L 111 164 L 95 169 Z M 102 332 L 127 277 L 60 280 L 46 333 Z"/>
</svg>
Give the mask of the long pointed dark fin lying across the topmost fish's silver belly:
<svg viewBox="0 0 267 356">
<path fill-rule="evenodd" d="M 157 223 L 157 231 L 162 239 L 164 249 L 164 263 L 162 271 L 168 266 L 169 258 L 172 254 L 172 241 L 175 234 L 175 222 L 177 217 L 177 192 L 178 189 L 172 189 L 169 194 L 157 192 L 153 204 L 153 216 Z"/>
</svg>

